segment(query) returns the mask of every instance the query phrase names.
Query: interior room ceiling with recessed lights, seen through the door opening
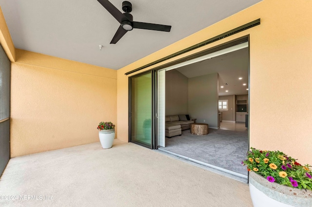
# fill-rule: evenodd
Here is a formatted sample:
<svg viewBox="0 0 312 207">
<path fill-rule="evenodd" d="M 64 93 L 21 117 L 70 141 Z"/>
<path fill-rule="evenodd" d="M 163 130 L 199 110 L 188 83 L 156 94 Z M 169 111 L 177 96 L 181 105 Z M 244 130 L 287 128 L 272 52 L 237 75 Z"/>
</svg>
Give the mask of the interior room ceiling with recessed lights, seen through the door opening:
<svg viewBox="0 0 312 207">
<path fill-rule="evenodd" d="M 219 74 L 219 96 L 248 94 L 248 48 L 187 65 L 177 70 L 188 78 Z M 242 77 L 241 80 L 238 78 Z M 243 86 L 243 84 L 246 86 Z M 225 85 L 227 84 L 227 85 Z M 220 86 L 224 86 L 221 88 Z M 228 92 L 226 92 L 228 90 Z"/>
</svg>

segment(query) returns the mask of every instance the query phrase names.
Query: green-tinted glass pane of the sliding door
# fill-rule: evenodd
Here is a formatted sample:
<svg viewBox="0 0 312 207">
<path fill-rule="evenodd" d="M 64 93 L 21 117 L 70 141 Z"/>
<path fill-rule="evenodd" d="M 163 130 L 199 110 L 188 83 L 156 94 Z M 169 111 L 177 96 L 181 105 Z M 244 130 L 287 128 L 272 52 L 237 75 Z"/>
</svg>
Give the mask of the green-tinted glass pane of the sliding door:
<svg viewBox="0 0 312 207">
<path fill-rule="evenodd" d="M 131 77 L 130 141 L 152 148 L 152 71 Z"/>
</svg>

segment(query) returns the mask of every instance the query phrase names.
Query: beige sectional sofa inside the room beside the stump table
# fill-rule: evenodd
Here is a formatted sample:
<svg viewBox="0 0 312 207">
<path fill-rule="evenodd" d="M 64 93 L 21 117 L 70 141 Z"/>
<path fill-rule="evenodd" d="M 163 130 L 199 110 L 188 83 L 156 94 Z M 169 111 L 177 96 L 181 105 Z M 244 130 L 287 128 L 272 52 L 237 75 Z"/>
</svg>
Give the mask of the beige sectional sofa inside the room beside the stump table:
<svg viewBox="0 0 312 207">
<path fill-rule="evenodd" d="M 187 120 L 185 114 L 166 116 L 165 134 L 166 137 L 181 136 L 182 130 L 190 129 L 193 120 Z"/>
</svg>

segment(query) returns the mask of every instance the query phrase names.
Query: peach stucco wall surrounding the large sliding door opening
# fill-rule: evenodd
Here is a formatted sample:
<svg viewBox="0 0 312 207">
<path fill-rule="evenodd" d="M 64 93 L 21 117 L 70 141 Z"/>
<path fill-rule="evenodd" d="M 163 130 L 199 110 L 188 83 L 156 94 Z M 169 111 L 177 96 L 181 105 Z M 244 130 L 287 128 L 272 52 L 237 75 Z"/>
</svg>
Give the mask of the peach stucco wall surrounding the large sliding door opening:
<svg viewBox="0 0 312 207">
<path fill-rule="evenodd" d="M 307 107 L 312 102 L 309 87 L 312 77 L 311 11 L 311 0 L 263 0 L 119 69 L 118 138 L 128 140 L 128 105 L 124 104 L 128 102 L 128 76 L 125 72 L 261 18 L 261 25 L 196 51 L 250 35 L 250 145 L 284 151 L 299 162 L 312 164 L 312 108 Z"/>
</svg>

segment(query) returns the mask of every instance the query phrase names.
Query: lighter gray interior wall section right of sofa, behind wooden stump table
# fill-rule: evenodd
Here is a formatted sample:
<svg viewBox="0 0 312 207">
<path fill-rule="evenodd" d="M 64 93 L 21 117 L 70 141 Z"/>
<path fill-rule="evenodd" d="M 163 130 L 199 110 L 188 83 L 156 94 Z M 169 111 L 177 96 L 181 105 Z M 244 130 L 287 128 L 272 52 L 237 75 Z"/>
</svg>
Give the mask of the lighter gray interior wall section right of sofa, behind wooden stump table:
<svg viewBox="0 0 312 207">
<path fill-rule="evenodd" d="M 189 115 L 218 127 L 218 73 L 189 78 Z"/>
</svg>

